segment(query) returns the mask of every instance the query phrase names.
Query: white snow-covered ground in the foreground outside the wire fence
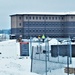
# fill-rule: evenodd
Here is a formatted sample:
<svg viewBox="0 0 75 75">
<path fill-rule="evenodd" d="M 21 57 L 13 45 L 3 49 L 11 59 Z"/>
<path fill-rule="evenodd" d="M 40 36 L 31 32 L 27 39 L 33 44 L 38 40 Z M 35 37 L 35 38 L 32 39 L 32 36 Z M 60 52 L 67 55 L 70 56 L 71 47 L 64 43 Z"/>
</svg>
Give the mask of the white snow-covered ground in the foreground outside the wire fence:
<svg viewBox="0 0 75 75">
<path fill-rule="evenodd" d="M 15 40 L 0 42 L 0 75 L 40 75 L 30 72 L 31 59 L 30 57 L 20 57 L 17 52 L 19 45 L 16 46 Z M 75 58 L 72 58 L 70 67 L 75 67 Z M 40 65 L 37 64 L 39 67 Z M 42 65 L 42 64 L 41 64 Z M 67 65 L 65 65 L 66 67 Z M 55 66 L 56 67 L 56 66 Z M 48 75 L 67 75 L 64 72 L 65 67 L 55 70 L 49 70 Z M 41 68 L 42 69 L 42 68 Z M 42 75 L 45 75 L 42 74 Z M 74 75 L 74 74 L 69 74 Z"/>
</svg>

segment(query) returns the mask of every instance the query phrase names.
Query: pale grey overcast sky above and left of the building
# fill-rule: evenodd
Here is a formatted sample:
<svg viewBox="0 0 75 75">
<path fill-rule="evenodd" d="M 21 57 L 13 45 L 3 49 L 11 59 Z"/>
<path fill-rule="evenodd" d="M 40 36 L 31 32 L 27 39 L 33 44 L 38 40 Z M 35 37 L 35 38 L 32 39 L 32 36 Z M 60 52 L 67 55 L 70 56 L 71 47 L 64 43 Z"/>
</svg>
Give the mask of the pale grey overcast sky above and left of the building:
<svg viewBox="0 0 75 75">
<path fill-rule="evenodd" d="M 11 27 L 14 13 L 70 11 L 75 11 L 75 0 L 0 0 L 0 29 Z"/>
</svg>

